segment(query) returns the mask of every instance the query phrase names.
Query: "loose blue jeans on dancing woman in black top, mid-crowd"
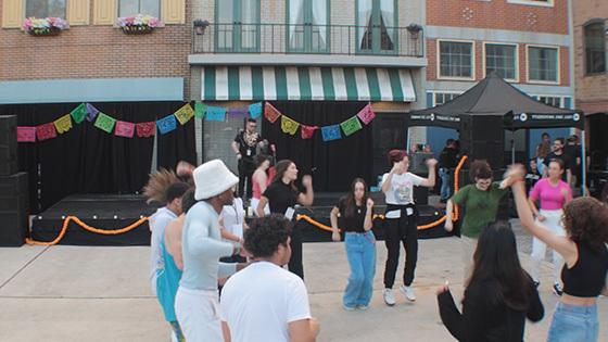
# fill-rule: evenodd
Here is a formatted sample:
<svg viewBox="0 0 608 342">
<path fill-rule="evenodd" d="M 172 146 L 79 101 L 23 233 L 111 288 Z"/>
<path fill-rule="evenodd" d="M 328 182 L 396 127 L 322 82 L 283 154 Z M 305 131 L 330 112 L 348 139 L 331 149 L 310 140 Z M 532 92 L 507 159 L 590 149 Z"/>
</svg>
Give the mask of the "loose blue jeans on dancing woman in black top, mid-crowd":
<svg viewBox="0 0 608 342">
<path fill-rule="evenodd" d="M 351 276 L 342 301 L 349 307 L 369 305 L 376 274 L 376 237 L 371 230 L 364 233 L 346 232 L 344 245 Z"/>
</svg>

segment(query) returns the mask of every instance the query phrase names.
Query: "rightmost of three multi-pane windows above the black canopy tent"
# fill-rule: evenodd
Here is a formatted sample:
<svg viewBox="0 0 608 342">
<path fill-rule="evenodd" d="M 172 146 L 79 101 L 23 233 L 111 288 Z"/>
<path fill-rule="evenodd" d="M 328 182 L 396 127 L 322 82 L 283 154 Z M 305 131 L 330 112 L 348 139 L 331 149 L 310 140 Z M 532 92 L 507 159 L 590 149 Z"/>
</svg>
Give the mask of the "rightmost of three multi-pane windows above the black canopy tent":
<svg viewBox="0 0 608 342">
<path fill-rule="evenodd" d="M 528 80 L 558 83 L 558 49 L 528 47 Z"/>
</svg>

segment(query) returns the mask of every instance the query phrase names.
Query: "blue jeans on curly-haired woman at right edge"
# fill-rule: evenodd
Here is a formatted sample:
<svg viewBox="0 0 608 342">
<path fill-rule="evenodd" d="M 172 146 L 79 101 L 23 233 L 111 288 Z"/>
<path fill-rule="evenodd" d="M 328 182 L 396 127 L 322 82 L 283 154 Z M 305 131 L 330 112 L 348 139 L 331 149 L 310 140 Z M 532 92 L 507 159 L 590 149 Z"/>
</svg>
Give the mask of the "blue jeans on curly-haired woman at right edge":
<svg viewBox="0 0 608 342">
<path fill-rule="evenodd" d="M 547 342 L 595 342 L 598 337 L 597 304 L 578 306 L 557 303 Z"/>
</svg>

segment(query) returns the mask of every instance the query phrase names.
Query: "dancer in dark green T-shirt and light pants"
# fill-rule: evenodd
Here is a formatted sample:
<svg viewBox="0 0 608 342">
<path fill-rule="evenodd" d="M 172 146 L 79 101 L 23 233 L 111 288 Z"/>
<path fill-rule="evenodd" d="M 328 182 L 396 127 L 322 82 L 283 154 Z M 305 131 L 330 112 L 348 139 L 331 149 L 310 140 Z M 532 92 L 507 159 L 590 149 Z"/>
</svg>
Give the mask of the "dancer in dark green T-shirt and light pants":
<svg viewBox="0 0 608 342">
<path fill-rule="evenodd" d="M 478 238 L 487 226 L 496 220 L 498 205 L 508 189 L 501 189 L 497 182 L 492 182 L 492 168 L 486 161 L 474 161 L 470 167 L 472 185 L 465 186 L 456 191 L 445 207 L 445 230 L 452 231 L 454 223 L 452 214 L 454 204 L 465 207 L 466 213 L 460 226 L 460 242 L 463 245 L 463 281 L 466 283 L 472 273 L 473 252 L 477 248 Z"/>
</svg>

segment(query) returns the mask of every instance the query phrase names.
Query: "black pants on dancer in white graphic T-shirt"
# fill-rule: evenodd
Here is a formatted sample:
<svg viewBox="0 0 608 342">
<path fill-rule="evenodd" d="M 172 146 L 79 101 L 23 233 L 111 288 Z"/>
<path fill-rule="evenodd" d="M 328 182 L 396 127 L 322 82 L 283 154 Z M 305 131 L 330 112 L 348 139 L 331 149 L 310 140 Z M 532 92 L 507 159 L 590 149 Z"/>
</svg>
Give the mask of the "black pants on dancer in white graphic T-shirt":
<svg viewBox="0 0 608 342">
<path fill-rule="evenodd" d="M 410 216 L 407 216 L 406 211 L 403 210 L 400 218 L 384 219 L 384 243 L 389 250 L 384 267 L 384 288 L 387 289 L 392 289 L 395 283 L 402 242 L 405 248 L 403 283 L 409 287 L 414 281 L 418 261 L 418 210 L 416 206 L 410 207 L 414 210 L 414 214 Z"/>
</svg>

